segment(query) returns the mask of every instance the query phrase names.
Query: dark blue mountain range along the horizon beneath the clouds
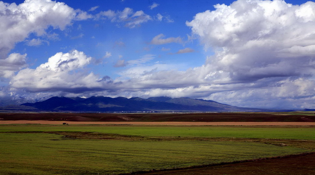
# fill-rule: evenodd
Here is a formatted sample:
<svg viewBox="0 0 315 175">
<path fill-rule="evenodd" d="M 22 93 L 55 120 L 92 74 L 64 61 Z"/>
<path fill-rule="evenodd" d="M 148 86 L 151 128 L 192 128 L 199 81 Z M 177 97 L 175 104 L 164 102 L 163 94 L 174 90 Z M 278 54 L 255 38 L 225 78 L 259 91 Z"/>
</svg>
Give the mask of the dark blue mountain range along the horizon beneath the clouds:
<svg viewBox="0 0 315 175">
<path fill-rule="evenodd" d="M 187 97 L 51 97 L 35 103 L 23 103 L 21 107 L 44 111 L 72 112 L 233 112 L 233 111 L 271 111 L 259 108 L 236 107 L 216 101 Z"/>
</svg>

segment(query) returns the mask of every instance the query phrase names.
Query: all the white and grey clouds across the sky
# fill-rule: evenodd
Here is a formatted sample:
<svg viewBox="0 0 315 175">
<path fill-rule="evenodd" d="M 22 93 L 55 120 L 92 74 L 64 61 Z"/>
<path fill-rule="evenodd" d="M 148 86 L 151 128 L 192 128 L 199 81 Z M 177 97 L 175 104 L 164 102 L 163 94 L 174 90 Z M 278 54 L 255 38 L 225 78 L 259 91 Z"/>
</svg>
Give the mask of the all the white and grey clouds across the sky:
<svg viewBox="0 0 315 175">
<path fill-rule="evenodd" d="M 153 3 L 149 10 L 160 6 Z M 241 107 L 314 108 L 315 3 L 238 0 L 214 7 L 186 21 L 198 39 L 194 42 L 214 52 L 204 58 L 203 65 L 179 70 L 180 63 L 149 64 L 157 56 L 144 55 L 117 60 L 114 67 L 125 69 L 112 79 L 93 73 L 88 67 L 93 66 L 94 58 L 76 49 L 51 55 L 36 68 L 27 64 L 27 54 L 11 50 L 29 40 L 30 34 L 49 35 L 49 27 L 63 31 L 80 20 L 110 20 L 133 30 L 153 17 L 132 8 L 89 14 L 50 0 L 26 0 L 19 5 L 0 2 L 0 77 L 9 81 L 2 91 L 37 97 L 187 96 Z M 89 11 L 98 9 L 95 6 Z M 147 42 L 163 49 L 186 41 L 178 35 L 157 33 Z M 177 51 L 178 55 L 196 52 L 186 46 Z M 106 55 L 104 59 L 112 57 L 110 52 Z"/>
</svg>

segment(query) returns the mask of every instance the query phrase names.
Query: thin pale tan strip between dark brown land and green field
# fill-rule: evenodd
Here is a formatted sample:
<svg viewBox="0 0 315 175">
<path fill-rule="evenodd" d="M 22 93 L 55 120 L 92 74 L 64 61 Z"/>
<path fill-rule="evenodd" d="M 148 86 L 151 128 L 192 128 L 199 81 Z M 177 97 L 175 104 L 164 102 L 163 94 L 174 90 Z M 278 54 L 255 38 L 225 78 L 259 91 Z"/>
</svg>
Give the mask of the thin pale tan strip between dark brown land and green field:
<svg viewBox="0 0 315 175">
<path fill-rule="evenodd" d="M 46 120 L 0 120 L 0 124 L 133 124 L 133 125 L 231 125 L 231 126 L 314 126 L 314 122 L 71 122 Z"/>
</svg>

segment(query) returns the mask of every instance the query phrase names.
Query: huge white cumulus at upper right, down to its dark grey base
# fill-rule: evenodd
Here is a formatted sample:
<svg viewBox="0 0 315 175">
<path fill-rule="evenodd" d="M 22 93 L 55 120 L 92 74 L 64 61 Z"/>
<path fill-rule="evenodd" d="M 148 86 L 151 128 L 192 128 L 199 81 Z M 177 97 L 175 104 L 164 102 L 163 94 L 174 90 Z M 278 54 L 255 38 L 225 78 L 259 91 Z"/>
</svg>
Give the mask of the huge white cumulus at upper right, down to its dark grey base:
<svg viewBox="0 0 315 175">
<path fill-rule="evenodd" d="M 303 76 L 314 68 L 314 4 L 239 0 L 215 5 L 186 24 L 205 48 L 222 48 L 208 63 L 233 80 Z"/>
</svg>

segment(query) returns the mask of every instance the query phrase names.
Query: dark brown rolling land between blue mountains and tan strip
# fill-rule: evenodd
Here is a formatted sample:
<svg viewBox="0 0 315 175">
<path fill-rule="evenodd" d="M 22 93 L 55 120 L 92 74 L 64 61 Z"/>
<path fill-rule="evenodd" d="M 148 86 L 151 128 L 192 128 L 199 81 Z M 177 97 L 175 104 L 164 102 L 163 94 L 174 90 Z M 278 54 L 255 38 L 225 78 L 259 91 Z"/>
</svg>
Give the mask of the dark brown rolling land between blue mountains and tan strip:
<svg viewBox="0 0 315 175">
<path fill-rule="evenodd" d="M 286 113 L 0 113 L 0 121 L 47 120 L 72 122 L 306 122 L 315 123 L 315 114 L 279 115 Z M 91 124 L 91 123 L 90 123 Z M 130 124 L 130 123 L 129 123 Z M 216 123 L 218 125 L 219 123 Z M 245 124 L 245 123 L 243 123 Z M 241 125 L 243 125 L 241 124 Z M 289 123 L 287 123 L 289 124 Z M 293 123 L 292 123 L 293 124 Z M 226 125 L 226 124 L 224 124 Z M 299 124 L 300 125 L 300 124 Z"/>
</svg>

